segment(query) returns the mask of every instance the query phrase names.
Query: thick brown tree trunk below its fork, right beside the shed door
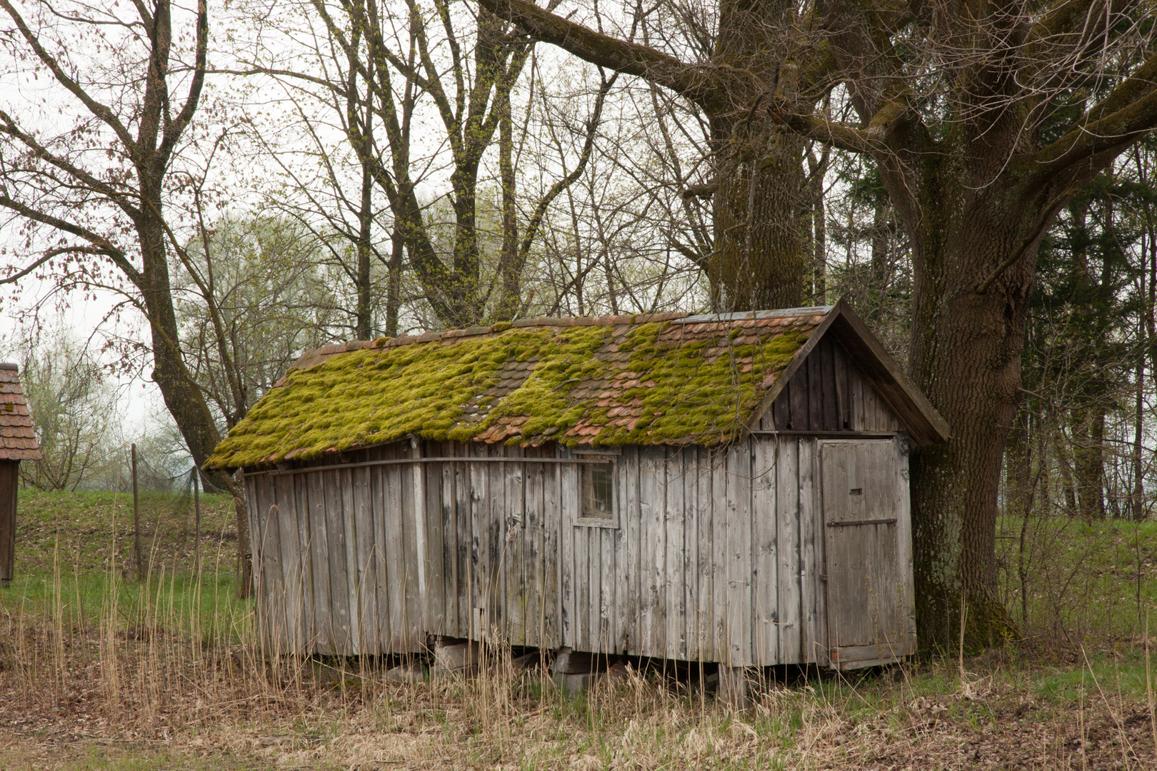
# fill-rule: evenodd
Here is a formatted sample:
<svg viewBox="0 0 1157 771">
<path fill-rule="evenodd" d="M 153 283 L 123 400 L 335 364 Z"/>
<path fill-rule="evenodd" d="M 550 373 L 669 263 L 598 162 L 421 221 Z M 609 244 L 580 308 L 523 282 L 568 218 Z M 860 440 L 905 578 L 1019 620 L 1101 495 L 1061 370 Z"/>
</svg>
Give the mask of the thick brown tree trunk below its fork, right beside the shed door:
<svg viewBox="0 0 1157 771">
<path fill-rule="evenodd" d="M 939 193 L 939 185 L 929 190 Z M 914 249 L 911 372 L 952 429 L 950 442 L 921 450 L 912 464 L 916 620 L 924 650 L 951 646 L 961 611 L 972 646 L 1016 633 L 996 593 L 994 539 L 1001 459 L 1020 388 L 1033 255 L 1005 269 L 986 291 L 977 287 L 992 266 L 1005 262 L 1009 244 L 1032 238 L 1036 222 L 1018 220 L 1016 208 L 993 200 L 993 191 L 972 197 L 964 206 L 949 203 L 956 210 L 945 214 L 946 238 L 921 239 Z M 945 208 L 931 197 L 921 203 L 929 217 Z"/>
</svg>

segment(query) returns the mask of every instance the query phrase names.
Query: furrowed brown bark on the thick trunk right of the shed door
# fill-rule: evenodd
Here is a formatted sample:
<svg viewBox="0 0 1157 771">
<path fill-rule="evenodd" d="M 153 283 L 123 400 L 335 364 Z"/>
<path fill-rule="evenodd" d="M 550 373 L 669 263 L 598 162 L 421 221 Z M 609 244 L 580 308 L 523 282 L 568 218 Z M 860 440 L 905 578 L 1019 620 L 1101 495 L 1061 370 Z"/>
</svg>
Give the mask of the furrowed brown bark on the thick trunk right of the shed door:
<svg viewBox="0 0 1157 771">
<path fill-rule="evenodd" d="M 972 250 L 993 246 L 979 228 L 970 235 Z M 959 265 L 961 257 L 943 254 L 937 262 Z M 996 503 L 1020 386 L 1031 273 L 1023 269 L 1011 282 L 1017 286 L 986 295 L 929 291 L 929 280 L 952 277 L 945 273 L 916 273 L 909 358 L 916 383 L 952 427 L 951 442 L 912 460 L 916 618 L 924 650 L 944 648 L 957 636 L 961 590 L 970 645 L 1015 633 L 996 594 Z"/>
</svg>

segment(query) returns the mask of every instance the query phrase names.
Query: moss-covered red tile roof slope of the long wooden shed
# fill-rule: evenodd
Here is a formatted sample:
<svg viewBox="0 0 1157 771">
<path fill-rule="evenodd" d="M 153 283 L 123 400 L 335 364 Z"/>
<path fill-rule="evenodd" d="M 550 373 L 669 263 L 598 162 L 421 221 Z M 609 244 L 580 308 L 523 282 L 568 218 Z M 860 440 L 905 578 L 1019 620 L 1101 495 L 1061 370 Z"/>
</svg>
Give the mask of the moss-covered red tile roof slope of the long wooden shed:
<svg viewBox="0 0 1157 771">
<path fill-rule="evenodd" d="M 715 445 L 736 438 L 830 307 L 528 319 L 304 354 L 207 467 L 427 439 Z"/>
</svg>

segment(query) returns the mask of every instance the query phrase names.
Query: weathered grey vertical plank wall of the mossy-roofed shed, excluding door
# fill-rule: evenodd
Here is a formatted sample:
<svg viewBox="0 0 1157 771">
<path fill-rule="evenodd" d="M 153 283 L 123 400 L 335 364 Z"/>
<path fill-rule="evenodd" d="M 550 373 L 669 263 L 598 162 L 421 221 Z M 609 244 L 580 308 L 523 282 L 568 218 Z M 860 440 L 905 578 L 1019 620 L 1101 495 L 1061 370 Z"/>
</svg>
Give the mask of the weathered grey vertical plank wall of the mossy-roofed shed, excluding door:
<svg viewBox="0 0 1157 771">
<path fill-rule="evenodd" d="M 496 632 L 521 646 L 827 663 L 818 442 L 625 447 L 616 527 L 576 524 L 578 466 L 533 462 L 553 447 L 398 443 L 349 460 L 462 460 L 251 475 L 265 640 L 355 654 Z M 513 462 L 479 460 L 494 457 Z"/>
</svg>

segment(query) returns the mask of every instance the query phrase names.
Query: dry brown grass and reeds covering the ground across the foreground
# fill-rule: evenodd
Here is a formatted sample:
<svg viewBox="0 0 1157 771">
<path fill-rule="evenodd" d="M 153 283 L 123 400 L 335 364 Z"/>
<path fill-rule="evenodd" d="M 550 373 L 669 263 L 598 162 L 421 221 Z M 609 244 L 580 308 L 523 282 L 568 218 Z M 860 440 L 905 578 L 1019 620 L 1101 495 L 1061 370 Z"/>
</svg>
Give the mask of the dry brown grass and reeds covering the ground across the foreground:
<svg viewBox="0 0 1157 771">
<path fill-rule="evenodd" d="M 737 712 L 662 669 L 567 695 L 502 650 L 412 684 L 386 679 L 396 661 L 271 662 L 223 570 L 194 581 L 157 559 L 126 584 L 66 557 L 42 553 L 0 595 L 0 769 L 1157 768 L 1150 657 L 1121 629 L 966 659 L 963 676 L 950 659 L 778 672 Z"/>
</svg>

